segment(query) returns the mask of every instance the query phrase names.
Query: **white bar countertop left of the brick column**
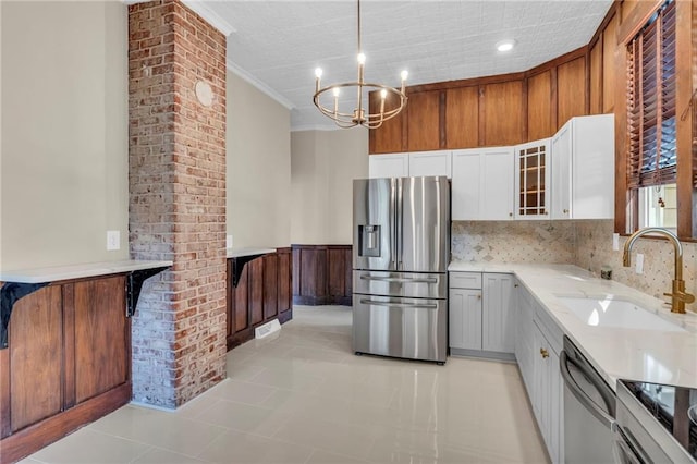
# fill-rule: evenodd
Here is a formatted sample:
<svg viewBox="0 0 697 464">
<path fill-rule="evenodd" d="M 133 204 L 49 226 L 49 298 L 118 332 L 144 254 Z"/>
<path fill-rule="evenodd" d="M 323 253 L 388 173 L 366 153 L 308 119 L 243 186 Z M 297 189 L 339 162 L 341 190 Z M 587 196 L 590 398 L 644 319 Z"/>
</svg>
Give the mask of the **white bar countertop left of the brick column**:
<svg viewBox="0 0 697 464">
<path fill-rule="evenodd" d="M 143 269 L 172 266 L 172 261 L 146 261 L 127 259 L 122 261 L 88 262 L 84 265 L 54 266 L 0 271 L 0 282 L 44 283 L 84 277 L 108 276 Z"/>
</svg>

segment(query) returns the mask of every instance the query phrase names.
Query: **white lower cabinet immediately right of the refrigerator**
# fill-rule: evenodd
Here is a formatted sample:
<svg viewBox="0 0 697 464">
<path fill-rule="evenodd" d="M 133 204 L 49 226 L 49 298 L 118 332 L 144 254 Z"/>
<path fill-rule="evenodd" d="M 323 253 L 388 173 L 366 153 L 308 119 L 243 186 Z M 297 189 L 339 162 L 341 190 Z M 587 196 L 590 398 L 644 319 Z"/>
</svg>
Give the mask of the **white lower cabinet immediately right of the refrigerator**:
<svg viewBox="0 0 697 464">
<path fill-rule="evenodd" d="M 476 351 L 484 356 L 513 357 L 515 286 L 515 278 L 508 273 L 450 272 L 452 354 Z"/>
</svg>

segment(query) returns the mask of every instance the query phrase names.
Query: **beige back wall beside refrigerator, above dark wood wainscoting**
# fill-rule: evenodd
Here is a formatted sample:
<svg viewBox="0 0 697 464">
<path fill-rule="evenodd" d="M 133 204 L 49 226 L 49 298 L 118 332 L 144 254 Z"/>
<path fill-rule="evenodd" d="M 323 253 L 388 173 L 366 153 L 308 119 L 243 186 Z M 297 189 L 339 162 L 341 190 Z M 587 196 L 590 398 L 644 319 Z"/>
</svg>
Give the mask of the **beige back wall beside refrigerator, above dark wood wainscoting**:
<svg viewBox="0 0 697 464">
<path fill-rule="evenodd" d="M 353 180 L 368 176 L 368 131 L 291 134 L 291 242 L 351 244 Z"/>
</svg>

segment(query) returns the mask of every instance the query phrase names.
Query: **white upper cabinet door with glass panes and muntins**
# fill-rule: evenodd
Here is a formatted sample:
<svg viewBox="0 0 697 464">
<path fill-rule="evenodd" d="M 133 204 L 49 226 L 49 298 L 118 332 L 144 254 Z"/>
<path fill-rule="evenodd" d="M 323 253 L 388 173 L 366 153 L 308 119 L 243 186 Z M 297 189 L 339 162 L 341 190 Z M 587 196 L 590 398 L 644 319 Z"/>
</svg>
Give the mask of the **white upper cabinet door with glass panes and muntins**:
<svg viewBox="0 0 697 464">
<path fill-rule="evenodd" d="M 515 146 L 515 219 L 549 219 L 550 139 Z"/>
</svg>

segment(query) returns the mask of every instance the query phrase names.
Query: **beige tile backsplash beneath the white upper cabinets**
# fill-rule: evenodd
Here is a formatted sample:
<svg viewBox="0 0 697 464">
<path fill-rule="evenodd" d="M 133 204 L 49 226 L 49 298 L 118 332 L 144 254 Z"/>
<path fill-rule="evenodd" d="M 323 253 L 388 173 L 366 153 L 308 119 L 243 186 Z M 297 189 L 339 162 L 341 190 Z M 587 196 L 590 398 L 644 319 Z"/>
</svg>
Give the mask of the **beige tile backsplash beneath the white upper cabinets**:
<svg viewBox="0 0 697 464">
<path fill-rule="evenodd" d="M 639 239 L 632 252 L 644 254 L 644 273 L 622 266 L 622 247 L 612 249 L 612 220 L 592 221 L 455 221 L 452 259 L 484 262 L 573 264 L 600 277 L 609 266 L 617 282 L 668 300 L 673 280 L 673 245 L 664 240 Z M 697 244 L 683 243 L 686 290 L 697 294 Z M 697 304 L 687 305 L 692 310 Z"/>
</svg>

